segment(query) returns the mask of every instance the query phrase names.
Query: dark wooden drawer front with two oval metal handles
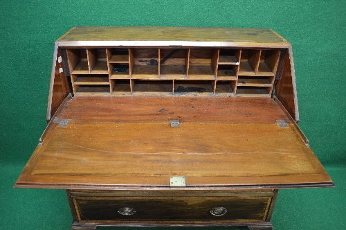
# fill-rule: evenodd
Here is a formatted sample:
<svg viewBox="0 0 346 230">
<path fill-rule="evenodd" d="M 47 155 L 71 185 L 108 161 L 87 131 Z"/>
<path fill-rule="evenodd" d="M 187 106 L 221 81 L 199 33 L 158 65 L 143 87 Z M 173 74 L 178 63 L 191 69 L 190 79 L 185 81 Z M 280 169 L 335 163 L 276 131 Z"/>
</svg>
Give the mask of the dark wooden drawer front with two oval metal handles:
<svg viewBox="0 0 346 230">
<path fill-rule="evenodd" d="M 74 197 L 80 221 L 263 221 L 272 197 Z"/>
</svg>

